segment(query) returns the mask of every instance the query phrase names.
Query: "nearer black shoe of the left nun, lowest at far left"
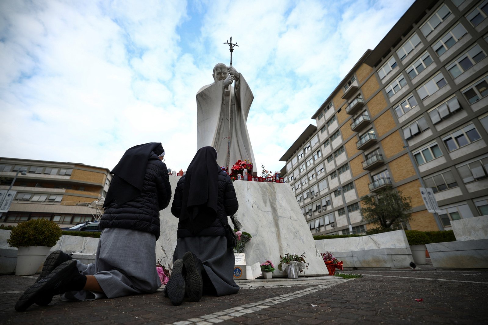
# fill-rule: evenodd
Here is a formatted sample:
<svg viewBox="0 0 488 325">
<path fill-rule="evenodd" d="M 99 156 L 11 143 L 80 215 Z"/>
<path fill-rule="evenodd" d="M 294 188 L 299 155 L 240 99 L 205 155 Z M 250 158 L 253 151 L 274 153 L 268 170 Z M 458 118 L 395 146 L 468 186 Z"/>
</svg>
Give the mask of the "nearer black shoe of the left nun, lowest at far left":
<svg viewBox="0 0 488 325">
<path fill-rule="evenodd" d="M 41 280 L 22 293 L 15 304 L 15 310 L 24 311 L 37 301 L 45 301 L 45 299 L 50 301 L 54 295 L 62 293 L 66 283 L 77 274 L 78 268 L 75 260 L 61 263 L 46 277 L 41 278 Z"/>
</svg>

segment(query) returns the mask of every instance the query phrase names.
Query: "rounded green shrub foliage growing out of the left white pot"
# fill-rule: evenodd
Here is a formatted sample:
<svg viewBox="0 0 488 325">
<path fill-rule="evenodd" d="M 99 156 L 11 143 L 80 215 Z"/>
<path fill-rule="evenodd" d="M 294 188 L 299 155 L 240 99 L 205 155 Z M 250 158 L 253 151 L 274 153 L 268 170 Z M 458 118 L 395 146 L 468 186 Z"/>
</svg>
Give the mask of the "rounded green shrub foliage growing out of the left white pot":
<svg viewBox="0 0 488 325">
<path fill-rule="evenodd" d="M 56 245 L 62 234 L 61 228 L 54 221 L 32 219 L 18 224 L 10 231 L 8 246 L 48 246 Z"/>
</svg>

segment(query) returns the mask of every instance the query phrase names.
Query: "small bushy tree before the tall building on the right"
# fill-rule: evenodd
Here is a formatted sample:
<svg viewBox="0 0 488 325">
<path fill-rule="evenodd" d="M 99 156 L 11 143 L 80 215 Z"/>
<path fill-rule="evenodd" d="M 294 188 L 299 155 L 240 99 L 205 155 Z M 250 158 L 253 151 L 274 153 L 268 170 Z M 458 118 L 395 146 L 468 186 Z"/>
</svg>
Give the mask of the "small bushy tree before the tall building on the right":
<svg viewBox="0 0 488 325">
<path fill-rule="evenodd" d="M 376 194 L 361 197 L 361 216 L 367 223 L 380 224 L 381 228 L 390 228 L 411 218 L 411 198 L 401 191 L 386 187 Z"/>
</svg>

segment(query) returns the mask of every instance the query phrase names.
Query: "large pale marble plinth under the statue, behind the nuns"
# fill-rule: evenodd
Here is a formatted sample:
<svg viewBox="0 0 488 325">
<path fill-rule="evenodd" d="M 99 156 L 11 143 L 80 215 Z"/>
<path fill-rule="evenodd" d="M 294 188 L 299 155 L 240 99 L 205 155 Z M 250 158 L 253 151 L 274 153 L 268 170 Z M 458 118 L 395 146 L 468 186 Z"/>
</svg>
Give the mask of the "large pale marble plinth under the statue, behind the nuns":
<svg viewBox="0 0 488 325">
<path fill-rule="evenodd" d="M 173 191 L 179 178 L 170 177 Z M 306 275 L 328 274 L 289 184 L 235 181 L 234 188 L 242 230 L 252 235 L 244 251 L 247 264 L 271 260 L 277 267 L 280 255 L 305 252 L 310 264 Z M 161 211 L 160 220 L 161 237 L 156 243 L 156 258 L 162 258 L 163 265 L 172 267 L 178 219 L 168 207 Z M 232 225 L 230 218 L 229 223 Z M 277 269 L 273 276 L 279 275 L 283 273 Z"/>
</svg>

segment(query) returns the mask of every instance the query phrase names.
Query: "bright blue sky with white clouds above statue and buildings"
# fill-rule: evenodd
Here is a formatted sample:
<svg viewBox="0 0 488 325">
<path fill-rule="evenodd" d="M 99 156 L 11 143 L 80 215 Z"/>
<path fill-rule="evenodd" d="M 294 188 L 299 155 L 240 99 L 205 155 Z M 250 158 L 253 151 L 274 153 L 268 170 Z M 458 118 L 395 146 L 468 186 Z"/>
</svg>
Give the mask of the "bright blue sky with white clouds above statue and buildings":
<svg viewBox="0 0 488 325">
<path fill-rule="evenodd" d="M 0 156 L 112 169 L 162 142 L 185 170 L 196 92 L 229 62 L 254 101 L 256 158 L 271 171 L 366 49 L 413 0 L 0 0 Z M 259 168 L 260 170 L 261 168 Z"/>
</svg>

